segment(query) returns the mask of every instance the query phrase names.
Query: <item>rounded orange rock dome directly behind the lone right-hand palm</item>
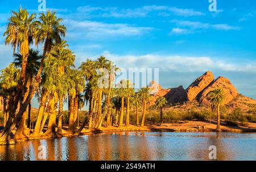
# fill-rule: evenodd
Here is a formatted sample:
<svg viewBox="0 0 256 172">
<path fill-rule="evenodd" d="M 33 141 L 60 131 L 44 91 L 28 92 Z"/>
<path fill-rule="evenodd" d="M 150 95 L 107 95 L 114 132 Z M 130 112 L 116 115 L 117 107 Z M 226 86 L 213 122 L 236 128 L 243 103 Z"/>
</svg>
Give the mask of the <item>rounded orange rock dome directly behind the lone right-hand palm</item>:
<svg viewBox="0 0 256 172">
<path fill-rule="evenodd" d="M 238 92 L 236 87 L 232 85 L 228 78 L 218 77 L 213 83 L 204 89 L 199 95 L 199 102 L 201 104 L 209 104 L 208 93 L 214 89 L 223 89 L 225 94 L 224 104 L 228 104 L 231 100 L 237 97 Z"/>
</svg>

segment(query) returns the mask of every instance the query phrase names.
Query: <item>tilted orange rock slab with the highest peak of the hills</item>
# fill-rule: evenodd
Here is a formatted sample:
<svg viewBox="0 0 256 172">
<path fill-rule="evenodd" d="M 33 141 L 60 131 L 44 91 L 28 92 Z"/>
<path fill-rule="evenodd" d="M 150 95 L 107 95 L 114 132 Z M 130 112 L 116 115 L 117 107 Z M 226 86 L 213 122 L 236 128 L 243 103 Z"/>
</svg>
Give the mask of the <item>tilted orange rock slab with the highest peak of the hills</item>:
<svg viewBox="0 0 256 172">
<path fill-rule="evenodd" d="M 201 77 L 197 78 L 187 89 L 187 99 L 192 101 L 203 91 L 206 87 L 210 85 L 214 81 L 214 76 L 212 72 L 208 71 L 201 75 Z"/>
</svg>

